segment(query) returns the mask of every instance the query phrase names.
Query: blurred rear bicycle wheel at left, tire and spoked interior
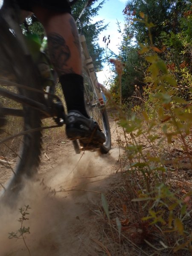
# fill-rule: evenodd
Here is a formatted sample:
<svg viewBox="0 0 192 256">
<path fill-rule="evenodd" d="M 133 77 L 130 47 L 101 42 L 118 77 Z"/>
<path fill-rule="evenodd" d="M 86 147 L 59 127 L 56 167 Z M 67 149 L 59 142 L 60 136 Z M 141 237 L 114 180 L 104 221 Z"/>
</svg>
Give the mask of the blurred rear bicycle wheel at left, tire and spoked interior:
<svg viewBox="0 0 192 256">
<path fill-rule="evenodd" d="M 3 78 L 4 80 L 4 82 L 0 82 L 0 87 L 4 90 L 11 90 L 18 95 L 27 96 L 30 99 L 39 100 L 41 102 L 42 95 L 40 93 L 20 87 L 13 89 L 13 82 L 39 89 L 40 81 L 31 58 L 24 54 L 23 49 L 20 47 L 20 43 L 17 41 L 17 36 L 15 36 L 14 32 L 9 29 L 6 21 L 1 16 L 0 56 L 0 78 Z M 3 122 L 1 122 L 2 126 L 0 127 L 0 156 L 3 156 L 4 159 L 8 161 L 11 154 L 14 153 L 17 155 L 14 167 L 10 164 L 6 164 L 3 166 L 3 172 L 0 172 L 0 185 L 3 187 L 3 189 L 1 189 L 1 193 L 3 193 L 3 195 L 7 195 L 9 194 L 8 192 L 17 192 L 21 189 L 23 185 L 23 177 L 31 178 L 37 173 L 39 156 L 41 154 L 41 131 L 27 132 L 22 135 L 22 138 L 20 137 L 20 139 L 15 139 L 19 141 L 16 144 L 20 145 L 15 145 L 14 148 L 12 148 L 13 136 L 17 135 L 18 132 L 10 131 L 6 128 L 10 129 L 10 125 L 14 122 L 15 125 L 17 124 L 20 127 L 19 132 L 35 128 L 37 130 L 37 128 L 41 127 L 41 118 L 39 111 L 31 108 L 30 106 L 15 103 L 14 100 L 12 101 L 11 99 L 4 98 L 2 95 L 0 95 L 0 100 L 0 119 L 3 120 Z M 12 104 L 16 105 L 17 108 L 22 111 L 23 115 L 20 117 L 5 116 L 2 114 L 3 103 L 4 106 L 10 106 Z M 22 125 L 20 125 L 21 121 Z M 1 143 L 4 139 L 7 141 Z M 13 174 L 10 173 L 10 169 Z M 9 175 L 9 180 L 7 180 L 7 175 Z M 9 198 L 6 198 L 6 200 L 7 199 L 9 200 Z"/>
</svg>

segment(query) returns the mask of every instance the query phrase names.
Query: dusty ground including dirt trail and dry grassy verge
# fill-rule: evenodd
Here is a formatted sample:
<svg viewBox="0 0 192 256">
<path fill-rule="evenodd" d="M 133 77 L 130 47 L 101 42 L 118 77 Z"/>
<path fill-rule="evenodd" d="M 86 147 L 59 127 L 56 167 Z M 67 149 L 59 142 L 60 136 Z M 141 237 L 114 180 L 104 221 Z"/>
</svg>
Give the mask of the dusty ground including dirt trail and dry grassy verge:
<svg viewBox="0 0 192 256">
<path fill-rule="evenodd" d="M 162 236 L 148 224 L 142 226 L 141 218 L 147 214 L 147 209 L 144 213 L 144 208 L 131 199 L 137 197 L 143 176 L 137 172 L 132 176 L 121 173 L 121 163 L 126 161 L 119 141 L 125 144 L 125 138 L 112 117 L 110 125 L 112 148 L 106 155 L 88 151 L 77 155 L 65 137 L 51 145 L 47 137 L 44 138 L 39 181 L 26 184 L 15 208 L 0 206 L 0 256 L 149 256 L 158 251 L 147 246 L 144 239 L 157 248 L 162 247 L 160 241 L 167 244 L 169 236 Z M 163 136 L 160 131 L 158 135 L 159 139 Z M 144 157 L 157 154 L 158 141 L 148 144 L 143 135 L 139 140 Z M 131 142 L 129 137 L 127 142 Z M 182 197 L 191 191 L 191 166 L 180 144 L 177 141 L 169 145 L 162 143 L 159 153 L 170 169 L 166 180 L 173 192 L 177 191 Z M 137 180 L 140 180 L 138 187 L 134 187 Z M 102 193 L 109 204 L 110 222 L 103 207 Z M 25 236 L 26 245 L 23 239 L 8 239 L 9 233 L 20 228 L 18 208 L 25 205 L 31 207 L 29 220 L 23 223 L 30 227 L 30 234 Z M 120 244 L 117 217 L 122 225 Z M 186 224 L 190 229 L 191 221 Z M 158 255 L 191 254 L 165 249 Z"/>
</svg>

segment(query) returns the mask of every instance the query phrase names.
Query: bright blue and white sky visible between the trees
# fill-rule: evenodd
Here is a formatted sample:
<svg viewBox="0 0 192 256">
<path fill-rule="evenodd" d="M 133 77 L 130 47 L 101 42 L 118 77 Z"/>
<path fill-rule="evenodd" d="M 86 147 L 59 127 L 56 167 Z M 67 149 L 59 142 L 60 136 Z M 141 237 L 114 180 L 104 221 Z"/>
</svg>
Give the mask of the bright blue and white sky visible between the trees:
<svg viewBox="0 0 192 256">
<path fill-rule="evenodd" d="M 102 0 L 101 0 L 102 1 Z M 98 5 L 99 2 L 96 3 Z M 104 20 L 104 24 L 108 24 L 108 28 L 106 31 L 103 31 L 101 35 L 99 35 L 99 45 L 100 47 L 105 48 L 105 44 L 102 42 L 104 36 L 110 35 L 111 42 L 109 44 L 109 48 L 118 54 L 118 46 L 121 43 L 120 35 L 117 31 L 117 20 L 121 24 L 121 28 L 124 27 L 124 16 L 123 9 L 125 9 L 127 0 L 105 0 L 103 8 L 99 10 L 98 16 L 94 17 L 93 22 L 96 20 Z M 100 83 L 108 80 L 110 77 L 110 67 L 105 65 L 102 72 L 97 73 L 97 77 Z"/>
</svg>

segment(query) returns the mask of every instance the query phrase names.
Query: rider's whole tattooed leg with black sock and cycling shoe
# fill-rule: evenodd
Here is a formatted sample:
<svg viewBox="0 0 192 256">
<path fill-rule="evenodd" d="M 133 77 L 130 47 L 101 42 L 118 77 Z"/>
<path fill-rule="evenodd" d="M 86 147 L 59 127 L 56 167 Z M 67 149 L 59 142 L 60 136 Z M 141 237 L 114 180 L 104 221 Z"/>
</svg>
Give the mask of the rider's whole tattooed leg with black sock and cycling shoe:
<svg viewBox="0 0 192 256">
<path fill-rule="evenodd" d="M 81 47 L 75 21 L 69 12 L 59 13 L 42 7 L 32 9 L 45 28 L 49 54 L 61 81 L 67 104 L 67 137 L 87 145 L 100 145 L 105 135 L 89 118 L 84 105 Z"/>
</svg>

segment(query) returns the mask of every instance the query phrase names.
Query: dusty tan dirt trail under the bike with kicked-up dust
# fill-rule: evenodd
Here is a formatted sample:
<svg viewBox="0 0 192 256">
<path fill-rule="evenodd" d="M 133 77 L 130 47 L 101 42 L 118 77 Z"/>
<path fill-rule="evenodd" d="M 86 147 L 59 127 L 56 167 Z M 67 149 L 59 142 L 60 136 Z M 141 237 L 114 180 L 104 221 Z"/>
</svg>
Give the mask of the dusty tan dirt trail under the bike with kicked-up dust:
<svg viewBox="0 0 192 256">
<path fill-rule="evenodd" d="M 85 152 L 81 157 L 74 153 L 70 142 L 47 148 L 45 152 L 50 160 L 43 152 L 39 171 L 43 183 L 28 183 L 16 209 L 1 206 L 0 256 L 29 255 L 22 239 L 8 239 L 8 233 L 20 228 L 18 208 L 28 204 L 31 209 L 24 226 L 30 227 L 26 244 L 31 256 L 103 255 L 95 242 L 100 239 L 96 221 L 100 214 L 100 192 L 113 186 L 120 169 L 113 119 L 110 124 L 112 149 L 109 154 Z M 55 195 L 52 192 L 56 192 Z"/>
</svg>

